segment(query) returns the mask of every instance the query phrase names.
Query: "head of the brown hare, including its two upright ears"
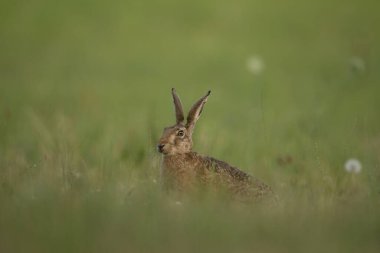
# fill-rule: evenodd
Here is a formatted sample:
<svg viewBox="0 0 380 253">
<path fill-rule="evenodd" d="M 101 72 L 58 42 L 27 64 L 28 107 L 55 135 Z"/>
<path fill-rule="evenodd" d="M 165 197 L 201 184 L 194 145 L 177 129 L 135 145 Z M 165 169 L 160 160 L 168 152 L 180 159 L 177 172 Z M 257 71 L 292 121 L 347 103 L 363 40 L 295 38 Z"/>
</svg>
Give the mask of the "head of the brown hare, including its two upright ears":
<svg viewBox="0 0 380 253">
<path fill-rule="evenodd" d="M 185 123 L 185 117 L 183 115 L 183 109 L 181 101 L 175 89 L 172 89 L 173 102 L 175 108 L 176 124 L 174 126 L 166 127 L 158 142 L 158 151 L 164 155 L 185 154 L 191 151 L 193 147 L 192 135 L 195 123 L 199 119 L 202 113 L 203 106 L 207 102 L 207 98 L 211 91 L 201 97 L 191 107 L 187 120 Z"/>
</svg>

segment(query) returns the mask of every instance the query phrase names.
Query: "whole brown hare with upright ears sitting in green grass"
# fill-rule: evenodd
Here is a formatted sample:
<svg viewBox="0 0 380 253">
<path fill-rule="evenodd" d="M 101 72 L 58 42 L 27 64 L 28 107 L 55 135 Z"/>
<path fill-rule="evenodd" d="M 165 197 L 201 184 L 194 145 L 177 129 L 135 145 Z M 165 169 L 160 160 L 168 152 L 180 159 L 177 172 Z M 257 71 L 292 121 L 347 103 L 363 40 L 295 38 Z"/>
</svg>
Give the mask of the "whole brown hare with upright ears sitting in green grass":
<svg viewBox="0 0 380 253">
<path fill-rule="evenodd" d="M 192 134 L 211 91 L 190 109 L 186 119 L 181 101 L 172 89 L 176 124 L 164 128 L 157 149 L 163 154 L 161 178 L 166 189 L 188 191 L 197 186 L 226 189 L 232 196 L 261 199 L 271 188 L 226 162 L 192 151 Z"/>
</svg>

